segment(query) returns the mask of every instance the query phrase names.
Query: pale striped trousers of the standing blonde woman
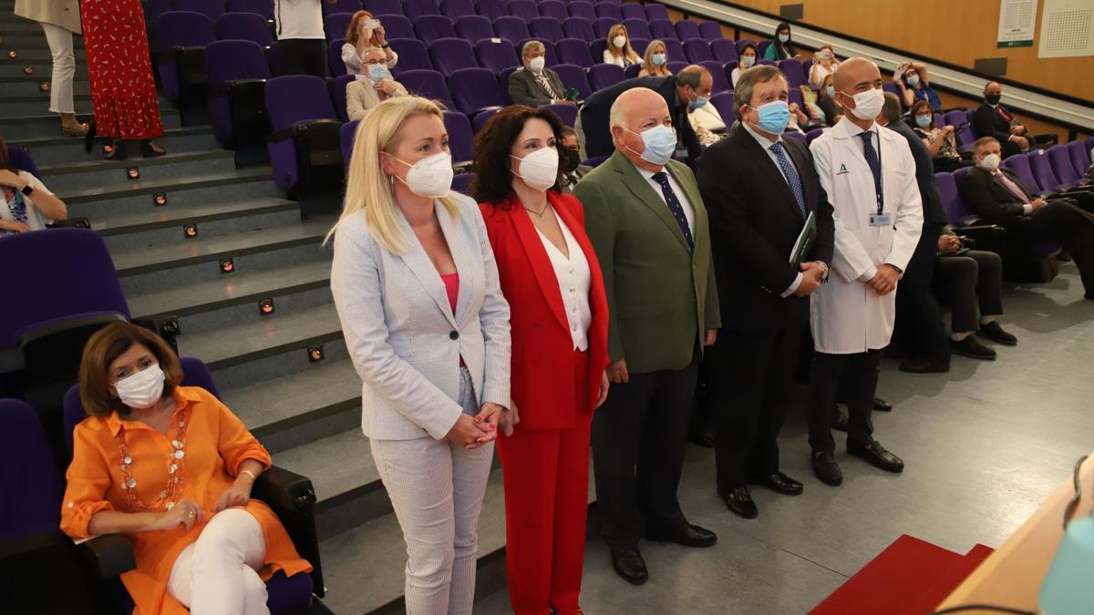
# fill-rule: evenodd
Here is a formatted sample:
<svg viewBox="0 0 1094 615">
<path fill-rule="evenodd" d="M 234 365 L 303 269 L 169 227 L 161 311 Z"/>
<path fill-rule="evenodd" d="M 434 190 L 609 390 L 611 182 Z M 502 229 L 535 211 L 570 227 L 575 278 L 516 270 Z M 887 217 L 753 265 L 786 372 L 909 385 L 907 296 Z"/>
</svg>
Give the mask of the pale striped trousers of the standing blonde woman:
<svg viewBox="0 0 1094 615">
<path fill-rule="evenodd" d="M 464 413 L 477 414 L 466 370 L 463 376 Z M 493 442 L 473 451 L 432 438 L 371 444 L 407 544 L 407 614 L 469 614 L 475 602 L 478 518 Z"/>
</svg>

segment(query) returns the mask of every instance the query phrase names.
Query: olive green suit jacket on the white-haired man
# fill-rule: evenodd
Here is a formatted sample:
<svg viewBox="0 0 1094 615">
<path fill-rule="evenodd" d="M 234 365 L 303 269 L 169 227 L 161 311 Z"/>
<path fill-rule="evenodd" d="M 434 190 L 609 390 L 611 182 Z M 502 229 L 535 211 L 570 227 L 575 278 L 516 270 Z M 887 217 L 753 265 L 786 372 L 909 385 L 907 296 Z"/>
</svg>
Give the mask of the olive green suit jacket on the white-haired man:
<svg viewBox="0 0 1094 615">
<path fill-rule="evenodd" d="M 695 208 L 694 251 L 662 196 L 618 151 L 573 187 L 604 274 L 608 355 L 631 373 L 686 368 L 705 330 L 721 326 L 699 186 L 684 164 L 665 169 Z"/>
</svg>

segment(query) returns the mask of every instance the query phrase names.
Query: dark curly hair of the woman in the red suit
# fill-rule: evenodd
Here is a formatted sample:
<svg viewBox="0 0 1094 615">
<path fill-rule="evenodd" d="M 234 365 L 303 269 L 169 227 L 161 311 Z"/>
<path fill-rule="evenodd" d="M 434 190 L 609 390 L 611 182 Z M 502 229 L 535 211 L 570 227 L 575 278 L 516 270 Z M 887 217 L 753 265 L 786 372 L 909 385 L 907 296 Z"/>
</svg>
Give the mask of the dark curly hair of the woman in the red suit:
<svg viewBox="0 0 1094 615">
<path fill-rule="evenodd" d="M 499 206 L 513 194 L 510 152 L 516 137 L 524 130 L 524 124 L 534 118 L 550 125 L 551 132 L 555 134 L 555 148 L 558 149 L 566 126 L 555 112 L 543 107 L 508 106 L 496 113 L 486 123 L 482 131 L 475 136 L 476 175 L 469 192 L 476 201 Z M 561 192 L 559 187 L 561 176 L 562 167 L 559 165 L 559 176 L 555 179 L 555 185 L 548 189 Z"/>
</svg>

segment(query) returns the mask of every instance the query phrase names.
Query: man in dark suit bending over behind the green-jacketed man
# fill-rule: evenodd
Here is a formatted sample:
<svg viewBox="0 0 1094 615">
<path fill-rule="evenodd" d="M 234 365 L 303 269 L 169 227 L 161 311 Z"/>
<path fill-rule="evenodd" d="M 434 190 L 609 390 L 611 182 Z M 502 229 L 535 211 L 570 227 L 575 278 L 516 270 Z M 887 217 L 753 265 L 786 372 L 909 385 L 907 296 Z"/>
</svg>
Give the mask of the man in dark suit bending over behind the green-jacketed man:
<svg viewBox="0 0 1094 615">
<path fill-rule="evenodd" d="M 676 149 L 679 152 L 677 159 L 683 158 L 679 154 L 686 155 L 689 162 L 698 159 L 702 153 L 702 146 L 688 119 L 688 106 L 701 96 L 709 97 L 713 85 L 714 78 L 709 70 L 691 65 L 675 76 L 637 77 L 594 92 L 585 98 L 585 104 L 578 114 L 578 130 L 583 134 L 585 159 L 609 155 L 615 151 L 608 115 L 616 98 L 635 88 L 649 88 L 665 100 L 673 126 L 676 127 Z"/>
</svg>

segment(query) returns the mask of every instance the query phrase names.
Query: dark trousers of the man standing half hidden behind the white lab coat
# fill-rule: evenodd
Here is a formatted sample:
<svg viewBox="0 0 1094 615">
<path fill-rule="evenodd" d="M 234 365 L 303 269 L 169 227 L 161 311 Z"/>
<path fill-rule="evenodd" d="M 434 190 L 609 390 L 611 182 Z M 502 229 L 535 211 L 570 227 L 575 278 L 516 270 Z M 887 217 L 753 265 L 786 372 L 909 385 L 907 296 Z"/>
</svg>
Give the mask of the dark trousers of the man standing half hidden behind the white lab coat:
<svg viewBox="0 0 1094 615">
<path fill-rule="evenodd" d="M 903 334 L 904 346 L 912 357 L 926 358 L 932 363 L 950 362 L 946 329 L 931 293 L 941 231 L 941 227 L 923 229 L 896 289 L 896 325 Z"/>
</svg>

